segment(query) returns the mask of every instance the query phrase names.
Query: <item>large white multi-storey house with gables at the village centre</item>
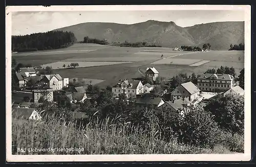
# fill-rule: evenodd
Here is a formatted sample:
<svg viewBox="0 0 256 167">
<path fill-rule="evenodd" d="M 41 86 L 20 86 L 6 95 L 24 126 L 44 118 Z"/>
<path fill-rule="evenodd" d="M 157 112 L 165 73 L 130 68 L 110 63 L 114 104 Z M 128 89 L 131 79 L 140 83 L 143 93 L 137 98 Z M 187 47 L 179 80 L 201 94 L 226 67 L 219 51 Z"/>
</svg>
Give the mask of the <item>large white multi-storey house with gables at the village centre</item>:
<svg viewBox="0 0 256 167">
<path fill-rule="evenodd" d="M 124 80 L 112 87 L 112 92 L 118 98 L 119 94 L 124 93 L 126 98 L 137 98 L 138 94 L 143 93 L 141 81 Z"/>
</svg>

